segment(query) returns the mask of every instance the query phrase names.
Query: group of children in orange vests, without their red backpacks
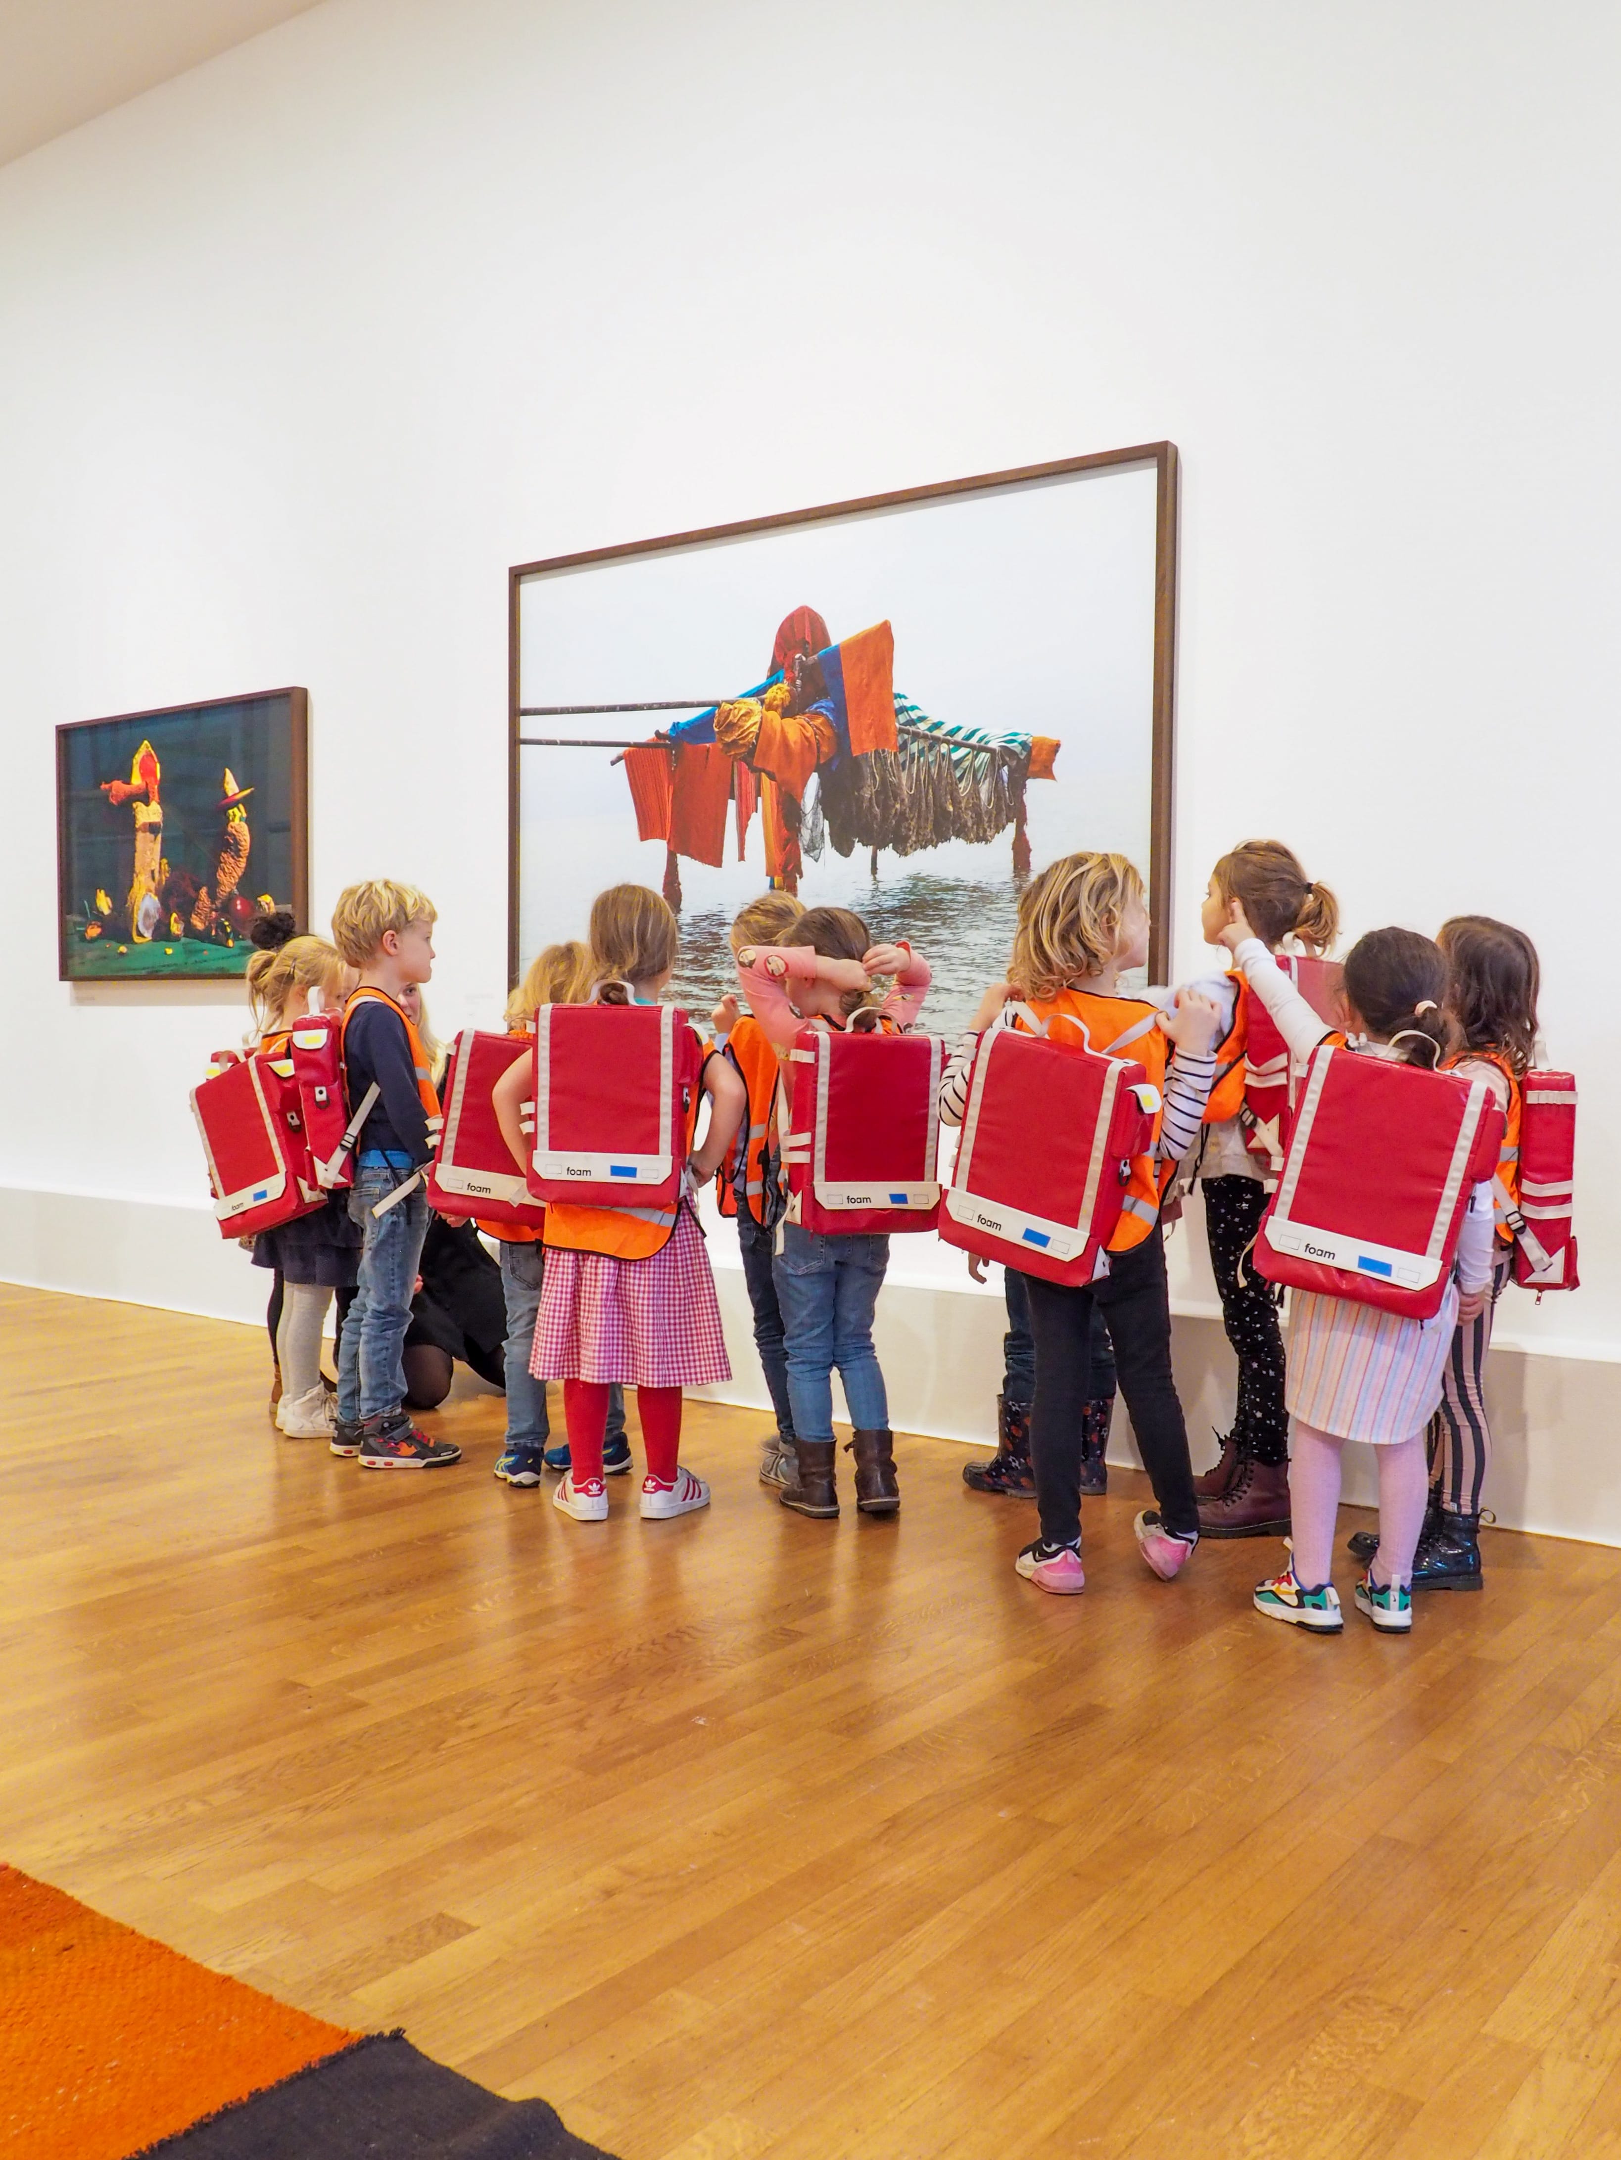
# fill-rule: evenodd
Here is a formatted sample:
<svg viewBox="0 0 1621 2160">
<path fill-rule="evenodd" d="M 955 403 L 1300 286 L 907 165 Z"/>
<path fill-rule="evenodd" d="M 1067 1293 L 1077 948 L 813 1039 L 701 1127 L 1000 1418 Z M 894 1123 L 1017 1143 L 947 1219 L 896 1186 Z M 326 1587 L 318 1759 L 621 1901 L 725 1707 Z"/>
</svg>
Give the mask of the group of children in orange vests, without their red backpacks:
<svg viewBox="0 0 1621 2160">
<path fill-rule="evenodd" d="M 277 1421 L 290 1436 L 326 1436 L 333 1454 L 367 1469 L 432 1469 L 460 1456 L 413 1423 L 402 1354 L 428 1220 L 421 1173 L 439 1128 L 419 1002 L 432 972 L 432 905 L 408 886 L 352 886 L 337 903 L 331 944 L 294 937 L 249 970 L 264 1048 L 285 1041 L 303 1013 L 341 1004 L 350 1106 L 376 1086 L 352 1186 L 255 1240 L 255 1264 L 274 1268 L 279 1285 Z M 1537 1041 L 1535 948 L 1481 916 L 1444 924 L 1437 942 L 1375 931 L 1344 961 L 1336 1032 L 1275 959 L 1290 940 L 1321 955 L 1338 931 L 1334 896 L 1308 881 L 1280 842 L 1245 842 L 1213 873 L 1204 933 L 1225 948 L 1228 972 L 1169 996 L 1124 989 L 1122 978 L 1146 963 L 1148 931 L 1143 883 L 1126 858 L 1076 853 L 1050 864 L 1020 899 L 1005 981 L 986 989 L 945 1063 L 940 1121 L 957 1125 L 981 1035 L 1042 1028 L 1061 1015 L 1085 1028 L 1094 1050 L 1137 1061 L 1158 1104 L 1148 1149 L 1122 1166 L 1120 1220 L 1098 1274 L 1066 1285 L 1005 1270 L 999 1447 L 964 1477 L 981 1493 L 1033 1497 L 1040 1536 L 1018 1555 L 1018 1572 L 1048 1592 L 1079 1592 L 1081 1495 L 1107 1490 L 1117 1385 L 1154 1488 L 1154 1506 L 1135 1523 L 1154 1575 L 1174 1579 L 1202 1536 L 1282 1536 L 1292 1527 L 1290 1564 L 1258 1585 L 1256 1607 L 1329 1633 L 1342 1626 L 1331 1585 L 1340 1449 L 1347 1439 L 1370 1441 L 1379 1449 L 1379 1534 L 1353 1540 L 1364 1560 L 1355 1603 L 1375 1626 L 1405 1631 L 1414 1588 L 1481 1583 L 1481 1486 L 1491 1445 L 1483 1365 L 1509 1277 L 1509 1231 L 1502 1210 L 1493 1212 L 1491 1184 L 1481 1184 L 1433 1320 L 1295 1292 L 1286 1354 L 1277 1294 L 1247 1264 L 1275 1173 L 1245 1110 L 1247 1039 L 1264 1015 L 1297 1063 L 1325 1037 L 1375 1058 L 1452 1063 L 1485 1076 L 1513 1136 Z M 845 1445 L 856 1508 L 899 1508 L 873 1350 L 888 1238 L 823 1236 L 795 1218 L 782 1069 L 806 1026 L 912 1030 L 929 968 L 908 944 L 875 944 L 849 909 L 806 909 L 785 892 L 750 903 L 731 944 L 735 987 L 692 1045 L 700 1078 L 687 1106 L 689 1175 L 674 1205 L 607 1207 L 571 1197 L 551 1201 L 536 1227 L 480 1225 L 499 1242 L 508 1328 L 506 1445 L 495 1473 L 536 1486 L 545 1471 L 560 1471 L 553 1503 L 575 1521 L 605 1518 L 605 1480 L 629 1469 L 625 1387 L 638 1391 L 646 1458 L 640 1512 L 668 1518 L 709 1501 L 679 1445 L 683 1389 L 731 1378 L 694 1207 L 711 1179 L 722 1214 L 737 1225 L 776 1413 L 761 1480 L 795 1514 L 839 1514 L 839 1372 L 854 1428 Z M 551 946 L 534 961 L 508 1004 L 508 1028 L 527 1032 L 542 1004 L 655 1004 L 676 953 L 670 907 L 642 886 L 614 886 L 592 905 L 586 944 Z M 493 1099 L 519 1166 L 527 1086 L 527 1061 L 519 1058 Z M 1048 1145 L 1053 1138 L 1061 1145 L 1061 1136 Z M 1513 1177 L 1509 1147 L 1502 1173 Z M 1210 1261 L 1238 1359 L 1232 1432 L 1204 1477 L 1193 1475 L 1171 1374 L 1165 1277 L 1165 1225 L 1193 1182 L 1204 1188 Z M 333 1292 L 346 1307 L 335 1400 L 320 1378 Z M 549 1380 L 562 1382 L 564 1445 L 551 1445 Z"/>
</svg>

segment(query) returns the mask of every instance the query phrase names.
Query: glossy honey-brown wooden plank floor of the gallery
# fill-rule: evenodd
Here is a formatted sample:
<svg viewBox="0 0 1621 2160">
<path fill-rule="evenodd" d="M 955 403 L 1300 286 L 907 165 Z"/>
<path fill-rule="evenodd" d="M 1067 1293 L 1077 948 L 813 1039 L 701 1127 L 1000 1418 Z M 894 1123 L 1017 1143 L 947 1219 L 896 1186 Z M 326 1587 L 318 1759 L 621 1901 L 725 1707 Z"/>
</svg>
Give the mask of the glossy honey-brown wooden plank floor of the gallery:
<svg viewBox="0 0 1621 2160">
<path fill-rule="evenodd" d="M 0 1855 L 192 1957 L 622 2160 L 1621 2156 L 1621 1553 L 1312 1642 L 1130 1477 L 1059 1601 L 942 1441 L 819 1525 L 694 1406 L 715 1506 L 588 1527 L 499 1398 L 380 1477 L 249 1328 L 0 1290 Z"/>
</svg>

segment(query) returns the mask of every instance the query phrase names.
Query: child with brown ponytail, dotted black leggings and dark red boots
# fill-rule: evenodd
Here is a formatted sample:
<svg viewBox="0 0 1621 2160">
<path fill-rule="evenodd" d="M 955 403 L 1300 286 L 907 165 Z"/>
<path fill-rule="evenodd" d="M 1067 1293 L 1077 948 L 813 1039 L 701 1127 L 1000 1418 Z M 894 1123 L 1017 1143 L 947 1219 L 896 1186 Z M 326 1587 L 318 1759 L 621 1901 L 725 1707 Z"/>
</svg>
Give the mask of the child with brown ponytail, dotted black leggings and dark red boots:
<svg viewBox="0 0 1621 2160">
<path fill-rule="evenodd" d="M 1314 886 L 1282 840 L 1245 840 L 1210 873 L 1202 927 L 1219 944 L 1232 901 L 1269 953 L 1297 937 L 1325 953 L 1340 931 L 1340 907 L 1327 886 Z M 1238 1406 L 1221 1460 L 1193 1480 L 1200 1531 L 1206 1538 L 1282 1538 L 1288 1534 L 1288 1410 L 1284 1408 L 1284 1335 L 1277 1292 L 1245 1266 L 1271 1197 L 1262 1162 L 1245 1147 L 1238 1123 L 1245 1080 L 1245 987 L 1225 1039 L 1217 1048 L 1217 1082 L 1206 1106 L 1204 1143 L 1193 1177 L 1204 1186 L 1204 1233 L 1221 1298 L 1221 1324 L 1238 1359 Z"/>
</svg>

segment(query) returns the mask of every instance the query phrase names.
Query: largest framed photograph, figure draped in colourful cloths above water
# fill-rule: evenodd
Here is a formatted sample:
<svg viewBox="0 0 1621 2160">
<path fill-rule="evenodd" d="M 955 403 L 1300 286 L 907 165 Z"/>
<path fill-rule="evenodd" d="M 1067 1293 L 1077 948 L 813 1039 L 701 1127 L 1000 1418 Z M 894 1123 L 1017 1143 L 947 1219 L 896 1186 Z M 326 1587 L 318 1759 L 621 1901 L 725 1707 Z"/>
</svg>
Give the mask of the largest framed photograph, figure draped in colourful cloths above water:
<svg viewBox="0 0 1621 2160">
<path fill-rule="evenodd" d="M 514 568 L 514 976 L 635 879 L 707 1013 L 772 883 L 916 944 L 951 1035 L 1031 866 L 1091 847 L 1143 870 L 1163 981 L 1176 480 L 1148 443 Z"/>
</svg>

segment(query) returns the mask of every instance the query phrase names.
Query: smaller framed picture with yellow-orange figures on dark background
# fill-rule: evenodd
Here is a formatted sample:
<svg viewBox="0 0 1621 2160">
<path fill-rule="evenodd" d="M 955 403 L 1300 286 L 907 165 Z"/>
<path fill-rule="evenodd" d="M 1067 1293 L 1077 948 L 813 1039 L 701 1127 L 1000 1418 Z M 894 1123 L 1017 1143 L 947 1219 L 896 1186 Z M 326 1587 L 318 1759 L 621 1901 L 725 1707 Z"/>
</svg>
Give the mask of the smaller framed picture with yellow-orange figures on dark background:
<svg viewBox="0 0 1621 2160">
<path fill-rule="evenodd" d="M 119 713 L 56 730 L 65 983 L 240 976 L 249 927 L 309 905 L 309 696 Z"/>
</svg>

